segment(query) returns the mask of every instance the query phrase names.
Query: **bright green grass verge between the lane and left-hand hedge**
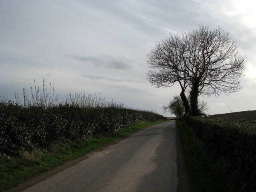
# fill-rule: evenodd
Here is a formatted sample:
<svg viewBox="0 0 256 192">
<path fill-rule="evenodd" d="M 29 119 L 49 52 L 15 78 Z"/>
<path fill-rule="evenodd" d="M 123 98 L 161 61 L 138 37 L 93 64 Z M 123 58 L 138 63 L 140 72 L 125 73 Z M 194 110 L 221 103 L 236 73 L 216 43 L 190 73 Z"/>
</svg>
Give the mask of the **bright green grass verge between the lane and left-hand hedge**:
<svg viewBox="0 0 256 192">
<path fill-rule="evenodd" d="M 0 192 L 10 190 L 40 174 L 160 122 L 163 121 L 138 121 L 112 134 L 82 139 L 64 146 L 52 146 L 48 150 L 20 152 L 18 157 L 0 157 Z"/>
</svg>

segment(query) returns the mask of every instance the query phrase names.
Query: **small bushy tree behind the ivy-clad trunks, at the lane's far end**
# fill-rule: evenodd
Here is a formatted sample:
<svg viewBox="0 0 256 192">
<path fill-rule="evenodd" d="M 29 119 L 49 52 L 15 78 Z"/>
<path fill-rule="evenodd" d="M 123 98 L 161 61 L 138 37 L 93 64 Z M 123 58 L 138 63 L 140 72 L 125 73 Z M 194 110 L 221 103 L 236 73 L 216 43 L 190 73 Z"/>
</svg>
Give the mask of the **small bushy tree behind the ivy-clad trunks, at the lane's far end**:
<svg viewBox="0 0 256 192">
<path fill-rule="evenodd" d="M 185 112 L 185 108 L 180 96 L 176 95 L 173 97 L 167 106 L 163 106 L 164 112 L 168 111 L 171 114 L 174 114 L 177 118 L 180 118 Z"/>
</svg>

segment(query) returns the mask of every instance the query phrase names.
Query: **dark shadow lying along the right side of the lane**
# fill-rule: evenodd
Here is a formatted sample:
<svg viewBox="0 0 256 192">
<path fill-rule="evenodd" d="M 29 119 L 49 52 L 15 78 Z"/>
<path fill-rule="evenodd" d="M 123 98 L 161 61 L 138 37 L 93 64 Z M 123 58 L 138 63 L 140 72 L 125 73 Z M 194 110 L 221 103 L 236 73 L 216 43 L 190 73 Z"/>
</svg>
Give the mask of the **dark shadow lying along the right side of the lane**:
<svg viewBox="0 0 256 192">
<path fill-rule="evenodd" d="M 186 180 L 183 168 L 175 122 L 174 124 L 168 124 L 168 126 L 161 128 L 160 131 L 158 133 L 152 133 L 162 134 L 163 138 L 162 142 L 156 148 L 155 155 L 152 157 L 155 168 L 141 178 L 136 191 L 190 192 L 190 186 Z"/>
</svg>

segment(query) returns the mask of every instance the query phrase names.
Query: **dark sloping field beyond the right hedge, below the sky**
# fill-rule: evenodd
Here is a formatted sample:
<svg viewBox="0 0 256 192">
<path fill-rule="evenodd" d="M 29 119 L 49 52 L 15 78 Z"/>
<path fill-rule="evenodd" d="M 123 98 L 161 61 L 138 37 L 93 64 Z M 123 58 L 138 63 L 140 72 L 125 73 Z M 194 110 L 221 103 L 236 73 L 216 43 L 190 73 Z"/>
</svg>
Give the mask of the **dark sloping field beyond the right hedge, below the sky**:
<svg viewBox="0 0 256 192">
<path fill-rule="evenodd" d="M 213 118 L 218 117 L 218 118 L 256 119 L 256 110 L 225 113 L 225 114 L 216 114 L 216 115 L 211 115 L 211 117 L 213 117 Z"/>
</svg>

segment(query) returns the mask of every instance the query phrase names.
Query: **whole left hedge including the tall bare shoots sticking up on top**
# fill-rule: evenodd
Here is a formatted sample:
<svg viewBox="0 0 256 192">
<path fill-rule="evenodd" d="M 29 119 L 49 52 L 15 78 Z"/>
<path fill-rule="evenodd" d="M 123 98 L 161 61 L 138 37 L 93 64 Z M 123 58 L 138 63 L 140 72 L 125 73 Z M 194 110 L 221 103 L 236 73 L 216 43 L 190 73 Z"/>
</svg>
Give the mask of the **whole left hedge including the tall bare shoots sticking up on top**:
<svg viewBox="0 0 256 192">
<path fill-rule="evenodd" d="M 164 117 L 155 112 L 133 110 L 118 102 L 106 102 L 95 94 L 54 96 L 35 86 L 23 100 L 0 96 L 0 156 L 20 151 L 49 148 L 94 135 L 116 132 L 137 120 L 156 122 Z"/>
</svg>

